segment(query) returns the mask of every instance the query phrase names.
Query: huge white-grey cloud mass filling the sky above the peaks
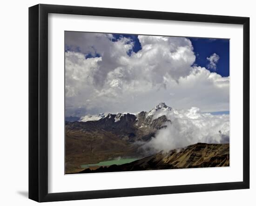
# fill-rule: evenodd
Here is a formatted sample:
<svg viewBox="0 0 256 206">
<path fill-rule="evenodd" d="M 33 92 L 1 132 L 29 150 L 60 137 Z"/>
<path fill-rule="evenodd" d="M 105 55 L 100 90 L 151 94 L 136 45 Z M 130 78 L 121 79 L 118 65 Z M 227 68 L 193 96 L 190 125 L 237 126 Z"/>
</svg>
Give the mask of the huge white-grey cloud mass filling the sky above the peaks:
<svg viewBox="0 0 256 206">
<path fill-rule="evenodd" d="M 192 66 L 189 39 L 141 35 L 141 50 L 134 53 L 133 40 L 113 38 L 65 33 L 66 115 L 136 113 L 162 101 L 203 112 L 229 110 L 229 77 Z"/>
</svg>

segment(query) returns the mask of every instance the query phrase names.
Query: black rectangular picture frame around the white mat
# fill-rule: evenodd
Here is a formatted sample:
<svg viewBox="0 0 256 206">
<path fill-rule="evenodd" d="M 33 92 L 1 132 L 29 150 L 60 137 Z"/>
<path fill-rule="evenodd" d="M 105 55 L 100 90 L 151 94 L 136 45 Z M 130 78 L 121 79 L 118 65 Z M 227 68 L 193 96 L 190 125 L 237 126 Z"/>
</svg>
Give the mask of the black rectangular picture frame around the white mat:
<svg viewBox="0 0 256 206">
<path fill-rule="evenodd" d="M 243 25 L 243 181 L 48 193 L 48 13 Z M 45 4 L 29 7 L 29 199 L 48 202 L 247 188 L 249 188 L 248 17 Z"/>
</svg>

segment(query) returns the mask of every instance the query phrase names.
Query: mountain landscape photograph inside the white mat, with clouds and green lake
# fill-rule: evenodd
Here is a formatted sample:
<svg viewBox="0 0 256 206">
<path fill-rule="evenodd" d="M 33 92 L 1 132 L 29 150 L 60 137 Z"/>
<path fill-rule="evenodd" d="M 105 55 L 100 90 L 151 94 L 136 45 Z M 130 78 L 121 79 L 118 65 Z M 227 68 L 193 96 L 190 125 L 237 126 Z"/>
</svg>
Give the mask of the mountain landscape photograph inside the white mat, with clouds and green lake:
<svg viewBox="0 0 256 206">
<path fill-rule="evenodd" d="M 64 41 L 65 174 L 229 166 L 229 39 Z"/>
</svg>

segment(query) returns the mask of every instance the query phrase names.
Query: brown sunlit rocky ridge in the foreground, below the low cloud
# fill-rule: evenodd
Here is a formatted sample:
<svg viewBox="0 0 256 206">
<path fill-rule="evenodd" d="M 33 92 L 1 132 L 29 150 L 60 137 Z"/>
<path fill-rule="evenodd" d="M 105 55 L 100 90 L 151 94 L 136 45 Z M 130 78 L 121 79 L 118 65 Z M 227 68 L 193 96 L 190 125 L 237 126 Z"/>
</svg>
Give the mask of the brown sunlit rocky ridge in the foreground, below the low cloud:
<svg viewBox="0 0 256 206">
<path fill-rule="evenodd" d="M 198 167 L 229 166 L 229 144 L 197 143 L 171 150 L 168 153 L 155 155 L 136 160 L 123 165 L 101 166 L 95 170 L 90 168 L 80 173 L 122 172 L 159 169 L 180 169 Z"/>
</svg>

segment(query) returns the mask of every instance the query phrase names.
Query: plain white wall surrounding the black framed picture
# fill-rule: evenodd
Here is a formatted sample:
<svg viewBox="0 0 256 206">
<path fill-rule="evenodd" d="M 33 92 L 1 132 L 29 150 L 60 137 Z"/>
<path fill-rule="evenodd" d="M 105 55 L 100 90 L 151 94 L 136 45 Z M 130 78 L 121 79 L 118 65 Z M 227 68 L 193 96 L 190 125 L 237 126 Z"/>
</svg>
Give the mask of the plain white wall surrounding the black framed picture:
<svg viewBox="0 0 256 206">
<path fill-rule="evenodd" d="M 38 3 L 89 7 L 113 7 L 182 13 L 204 13 L 250 17 L 251 68 L 251 180 L 250 189 L 204 193 L 155 195 L 114 199 L 76 200 L 44 205 L 255 205 L 256 204 L 256 133 L 255 85 L 253 57 L 256 56 L 256 13 L 254 1 L 138 1 L 138 0 L 24 0 L 2 1 L 0 12 L 0 204 L 37 205 L 27 199 L 28 193 L 28 7 Z M 238 108 L 242 109 L 242 108 Z M 254 117 L 252 117 L 254 115 Z M 241 154 L 242 155 L 242 154 Z M 193 178 L 193 177 L 191 177 Z"/>
</svg>

